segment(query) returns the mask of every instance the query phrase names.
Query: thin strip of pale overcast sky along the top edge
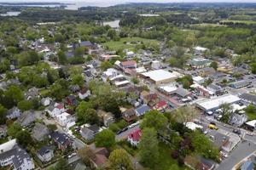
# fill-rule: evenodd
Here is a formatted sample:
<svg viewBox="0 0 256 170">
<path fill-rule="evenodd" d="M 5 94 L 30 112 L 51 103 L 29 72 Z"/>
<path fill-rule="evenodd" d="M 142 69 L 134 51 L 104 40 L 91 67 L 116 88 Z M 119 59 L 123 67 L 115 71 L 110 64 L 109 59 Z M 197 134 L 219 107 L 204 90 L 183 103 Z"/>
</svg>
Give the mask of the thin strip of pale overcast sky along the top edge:
<svg viewBox="0 0 256 170">
<path fill-rule="evenodd" d="M 227 2 L 227 3 L 256 3 L 256 0 L 0 0 L 4 3 L 28 3 L 28 2 L 57 2 L 57 3 L 188 3 L 188 2 L 200 2 L 200 3 L 212 3 L 212 2 Z"/>
</svg>

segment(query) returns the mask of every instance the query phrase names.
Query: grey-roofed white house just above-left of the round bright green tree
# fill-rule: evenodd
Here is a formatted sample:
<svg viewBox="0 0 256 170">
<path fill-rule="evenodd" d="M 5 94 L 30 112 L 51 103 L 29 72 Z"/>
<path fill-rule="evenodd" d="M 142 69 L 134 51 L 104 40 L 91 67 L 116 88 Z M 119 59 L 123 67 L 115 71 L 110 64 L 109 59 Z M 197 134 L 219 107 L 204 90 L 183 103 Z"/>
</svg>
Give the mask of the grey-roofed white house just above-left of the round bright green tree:
<svg viewBox="0 0 256 170">
<path fill-rule="evenodd" d="M 96 133 L 100 132 L 100 128 L 94 124 L 90 127 L 82 127 L 80 130 L 81 136 L 86 140 L 91 140 L 95 138 Z"/>
</svg>

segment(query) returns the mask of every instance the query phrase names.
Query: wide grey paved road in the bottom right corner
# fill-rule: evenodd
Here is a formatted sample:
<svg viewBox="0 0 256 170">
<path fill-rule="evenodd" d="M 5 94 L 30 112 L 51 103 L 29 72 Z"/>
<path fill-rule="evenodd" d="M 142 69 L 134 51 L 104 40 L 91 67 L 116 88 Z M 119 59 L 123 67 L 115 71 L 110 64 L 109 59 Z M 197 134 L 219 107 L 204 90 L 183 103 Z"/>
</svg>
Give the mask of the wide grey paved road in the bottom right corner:
<svg viewBox="0 0 256 170">
<path fill-rule="evenodd" d="M 240 143 L 237 145 L 236 149 L 231 152 L 230 156 L 219 164 L 217 170 L 231 170 L 237 163 L 247 156 L 250 156 L 255 151 L 256 144 L 247 141 Z"/>
</svg>

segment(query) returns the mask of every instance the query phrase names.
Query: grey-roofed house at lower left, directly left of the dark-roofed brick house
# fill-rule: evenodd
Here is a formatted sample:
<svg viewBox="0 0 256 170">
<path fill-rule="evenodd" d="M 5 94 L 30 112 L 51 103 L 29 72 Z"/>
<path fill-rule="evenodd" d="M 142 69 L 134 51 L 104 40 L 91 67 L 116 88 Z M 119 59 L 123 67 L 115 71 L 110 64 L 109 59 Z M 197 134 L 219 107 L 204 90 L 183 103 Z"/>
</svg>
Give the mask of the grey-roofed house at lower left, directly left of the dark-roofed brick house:
<svg viewBox="0 0 256 170">
<path fill-rule="evenodd" d="M 43 141 L 49 135 L 49 129 L 44 124 L 37 122 L 32 128 L 32 138 L 38 141 Z"/>
</svg>

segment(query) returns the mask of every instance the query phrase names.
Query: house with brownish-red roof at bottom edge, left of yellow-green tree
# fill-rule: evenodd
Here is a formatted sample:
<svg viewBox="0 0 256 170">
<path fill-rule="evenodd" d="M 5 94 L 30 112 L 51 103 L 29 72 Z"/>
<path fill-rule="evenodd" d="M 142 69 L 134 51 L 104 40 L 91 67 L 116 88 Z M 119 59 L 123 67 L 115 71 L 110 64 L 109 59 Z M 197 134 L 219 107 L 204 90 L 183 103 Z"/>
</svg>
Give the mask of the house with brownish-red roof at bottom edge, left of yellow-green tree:
<svg viewBox="0 0 256 170">
<path fill-rule="evenodd" d="M 91 159 L 91 166 L 96 168 L 104 168 L 108 162 L 109 152 L 106 148 L 96 148 L 93 151 L 95 157 Z"/>
</svg>

